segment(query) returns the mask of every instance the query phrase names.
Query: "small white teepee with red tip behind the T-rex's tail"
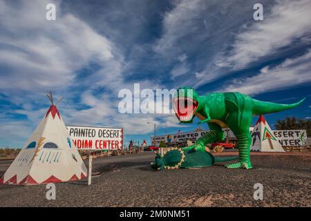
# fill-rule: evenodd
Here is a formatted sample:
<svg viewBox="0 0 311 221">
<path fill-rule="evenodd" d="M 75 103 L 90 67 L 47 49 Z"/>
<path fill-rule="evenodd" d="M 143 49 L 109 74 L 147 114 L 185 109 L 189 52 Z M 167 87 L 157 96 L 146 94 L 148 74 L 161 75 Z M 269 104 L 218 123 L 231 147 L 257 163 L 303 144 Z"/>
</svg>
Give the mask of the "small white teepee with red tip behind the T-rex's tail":
<svg viewBox="0 0 311 221">
<path fill-rule="evenodd" d="M 251 135 L 251 151 L 285 152 L 263 115 L 259 116 Z"/>
</svg>

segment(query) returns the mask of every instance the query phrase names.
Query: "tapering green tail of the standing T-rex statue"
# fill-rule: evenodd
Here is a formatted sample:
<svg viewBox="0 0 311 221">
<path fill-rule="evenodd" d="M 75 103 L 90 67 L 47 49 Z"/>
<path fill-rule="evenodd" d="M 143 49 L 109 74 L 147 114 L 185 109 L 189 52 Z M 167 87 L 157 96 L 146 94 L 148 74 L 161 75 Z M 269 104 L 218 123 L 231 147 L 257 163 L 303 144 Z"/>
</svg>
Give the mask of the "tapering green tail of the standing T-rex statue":
<svg viewBox="0 0 311 221">
<path fill-rule="evenodd" d="M 261 102 L 258 101 L 257 99 L 254 99 L 254 108 L 252 113 L 254 115 L 264 115 L 266 113 L 275 113 L 279 111 L 285 111 L 290 108 L 294 108 L 296 106 L 299 106 L 305 98 L 301 99 L 300 102 L 296 102 L 294 104 L 276 104 L 272 102 Z"/>
</svg>

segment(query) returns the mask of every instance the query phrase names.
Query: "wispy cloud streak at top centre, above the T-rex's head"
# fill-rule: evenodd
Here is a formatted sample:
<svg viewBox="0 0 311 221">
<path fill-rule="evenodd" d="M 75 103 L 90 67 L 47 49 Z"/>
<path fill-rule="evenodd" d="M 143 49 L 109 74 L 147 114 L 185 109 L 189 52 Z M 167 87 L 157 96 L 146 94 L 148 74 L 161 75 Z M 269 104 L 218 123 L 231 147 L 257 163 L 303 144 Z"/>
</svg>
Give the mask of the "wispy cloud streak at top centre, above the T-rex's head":
<svg viewBox="0 0 311 221">
<path fill-rule="evenodd" d="M 205 2 L 180 0 L 173 1 L 173 4 L 174 8 L 163 16 L 163 34 L 153 45 L 153 50 L 164 59 L 165 64 L 173 63 L 171 79 L 178 79 L 190 71 L 185 53 L 187 48 L 191 48 L 191 44 L 187 44 L 187 37 L 203 26 L 200 13 L 205 8 Z"/>
</svg>

